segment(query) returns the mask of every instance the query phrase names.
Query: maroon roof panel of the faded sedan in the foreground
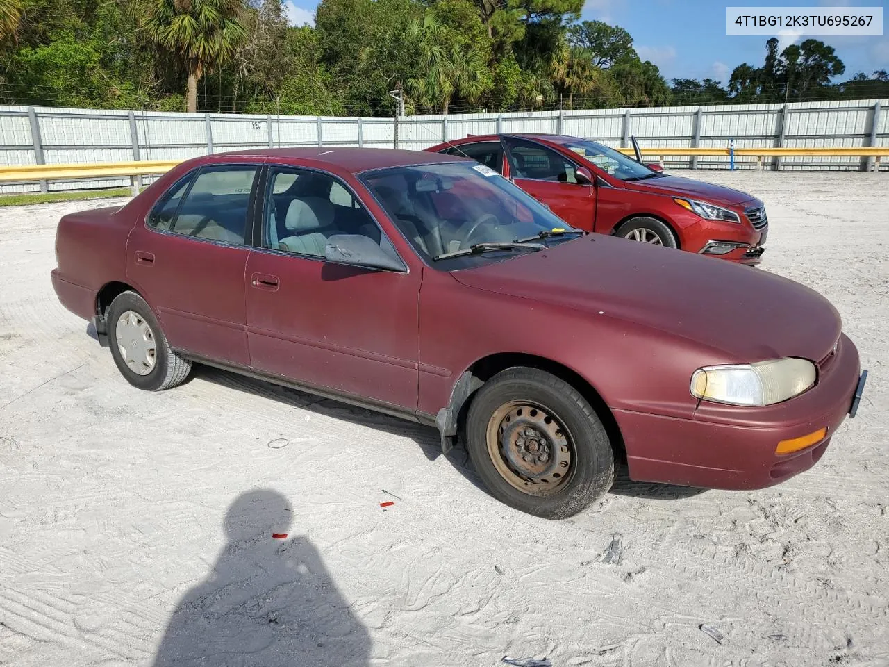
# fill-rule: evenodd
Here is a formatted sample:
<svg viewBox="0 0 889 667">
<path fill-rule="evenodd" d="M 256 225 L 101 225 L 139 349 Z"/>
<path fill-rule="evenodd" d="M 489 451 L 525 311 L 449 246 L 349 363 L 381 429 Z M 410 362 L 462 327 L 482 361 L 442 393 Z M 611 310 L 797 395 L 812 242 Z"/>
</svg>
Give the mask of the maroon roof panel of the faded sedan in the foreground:
<svg viewBox="0 0 889 667">
<path fill-rule="evenodd" d="M 206 163 L 212 163 L 213 158 L 218 157 L 262 157 L 293 165 L 299 165 L 302 161 L 310 160 L 315 164 L 335 165 L 351 173 L 361 173 L 387 167 L 430 165 L 439 162 L 469 162 L 466 157 L 426 153 L 420 150 L 356 149 L 341 148 L 339 146 L 318 146 L 305 149 L 237 150 L 228 153 L 214 153 L 211 156 L 204 157 L 204 160 Z"/>
</svg>

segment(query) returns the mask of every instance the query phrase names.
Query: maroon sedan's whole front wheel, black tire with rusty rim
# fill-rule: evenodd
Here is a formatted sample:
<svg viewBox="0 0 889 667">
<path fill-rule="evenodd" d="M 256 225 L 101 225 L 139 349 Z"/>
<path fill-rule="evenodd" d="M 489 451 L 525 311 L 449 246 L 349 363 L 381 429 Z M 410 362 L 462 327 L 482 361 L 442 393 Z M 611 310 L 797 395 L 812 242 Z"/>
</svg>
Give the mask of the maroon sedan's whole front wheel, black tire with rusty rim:
<svg viewBox="0 0 889 667">
<path fill-rule="evenodd" d="M 516 417 L 515 421 L 508 425 L 510 430 L 504 433 L 501 426 L 510 420 L 507 417 L 501 421 L 498 415 L 503 414 L 504 408 L 512 409 L 515 411 L 514 414 L 521 415 L 521 409 L 509 408 L 518 404 L 538 406 L 542 411 L 541 414 L 548 415 L 547 423 L 561 424 L 565 428 L 569 449 L 573 451 L 571 451 L 571 461 L 564 469 L 568 471 L 567 474 L 560 476 L 546 473 L 559 478 L 558 480 L 549 478 L 550 482 L 556 481 L 554 486 L 529 484 L 518 474 L 517 469 L 511 470 L 510 474 L 505 447 L 518 448 L 519 442 L 510 439 L 512 436 L 509 433 L 518 432 L 517 437 L 521 440 L 529 431 L 519 426 L 520 419 L 525 417 Z M 536 412 L 531 410 L 527 414 Z M 561 432 L 561 430 L 555 431 L 556 434 Z M 499 434 L 502 438 L 493 438 L 489 447 L 489 435 L 492 433 Z M 548 434 L 543 432 L 541 435 Z M 596 412 L 570 384 L 536 368 L 520 366 L 508 368 L 485 382 L 469 406 L 466 440 L 469 457 L 489 492 L 501 502 L 537 517 L 554 519 L 571 517 L 595 502 L 612 486 L 613 448 Z M 528 438 L 526 442 L 533 443 L 534 451 L 539 451 L 533 438 Z M 545 446 L 545 439 L 542 442 Z M 555 443 L 550 442 L 549 446 L 551 449 L 547 451 L 555 452 Z M 499 461 L 495 462 L 491 448 L 497 449 Z M 561 449 L 565 451 L 564 446 Z M 517 449 L 518 453 L 522 451 L 525 450 Z M 513 454 L 518 455 L 515 452 Z M 550 455 L 553 457 L 550 463 L 555 465 L 557 454 Z M 562 463 L 564 461 L 558 462 L 559 465 Z M 519 462 L 519 465 L 522 463 Z M 509 478 L 506 475 L 509 475 Z M 547 480 L 537 478 L 537 482 L 541 481 Z M 519 490 L 517 483 L 519 486 L 524 485 L 525 490 Z"/>
</svg>

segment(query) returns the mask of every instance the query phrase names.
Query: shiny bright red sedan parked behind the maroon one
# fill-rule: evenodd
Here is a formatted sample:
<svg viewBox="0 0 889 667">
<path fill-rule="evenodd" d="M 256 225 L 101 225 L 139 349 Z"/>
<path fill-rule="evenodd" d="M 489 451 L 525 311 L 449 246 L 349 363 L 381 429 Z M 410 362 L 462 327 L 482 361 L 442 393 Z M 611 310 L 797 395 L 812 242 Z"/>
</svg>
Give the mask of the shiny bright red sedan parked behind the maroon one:
<svg viewBox="0 0 889 667">
<path fill-rule="evenodd" d="M 758 264 L 765 252 L 768 219 L 756 197 L 668 176 L 597 141 L 490 134 L 427 150 L 491 167 L 580 229 L 739 264 Z"/>
</svg>

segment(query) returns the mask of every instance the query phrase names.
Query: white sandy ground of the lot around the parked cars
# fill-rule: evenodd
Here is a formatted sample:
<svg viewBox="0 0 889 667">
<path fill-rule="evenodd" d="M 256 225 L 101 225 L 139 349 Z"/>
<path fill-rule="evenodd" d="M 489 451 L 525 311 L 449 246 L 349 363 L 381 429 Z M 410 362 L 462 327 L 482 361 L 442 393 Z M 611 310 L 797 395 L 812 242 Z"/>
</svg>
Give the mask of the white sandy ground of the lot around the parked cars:
<svg viewBox="0 0 889 667">
<path fill-rule="evenodd" d="M 699 176 L 765 199 L 764 269 L 837 305 L 861 412 L 781 486 L 624 475 L 562 522 L 434 430 L 204 368 L 132 389 L 49 281 L 101 203 L 0 209 L 0 663 L 889 664 L 889 176 Z"/>
</svg>

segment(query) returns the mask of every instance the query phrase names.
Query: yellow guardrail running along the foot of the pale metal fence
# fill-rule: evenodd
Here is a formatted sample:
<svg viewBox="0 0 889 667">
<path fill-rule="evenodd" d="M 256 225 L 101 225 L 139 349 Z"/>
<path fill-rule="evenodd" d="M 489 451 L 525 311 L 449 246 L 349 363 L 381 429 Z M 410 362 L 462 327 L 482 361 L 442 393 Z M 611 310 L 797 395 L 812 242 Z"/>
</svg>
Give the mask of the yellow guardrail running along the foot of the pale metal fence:
<svg viewBox="0 0 889 667">
<path fill-rule="evenodd" d="M 634 155 L 633 149 L 618 149 L 625 155 Z M 699 156 L 699 157 L 756 157 L 757 168 L 762 168 L 765 157 L 806 157 L 806 156 L 845 156 L 873 157 L 874 168 L 879 171 L 880 158 L 889 157 L 889 147 L 885 148 L 799 148 L 799 149 L 722 149 L 722 148 L 686 148 L 686 147 L 645 147 L 640 149 L 645 156 L 656 156 L 662 163 L 667 156 Z M 69 165 L 0 165 L 0 182 L 28 181 L 81 181 L 95 178 L 132 177 L 164 173 L 181 160 L 141 160 L 136 162 L 106 162 L 92 164 Z M 135 185 L 134 185 L 135 189 Z"/>
</svg>

